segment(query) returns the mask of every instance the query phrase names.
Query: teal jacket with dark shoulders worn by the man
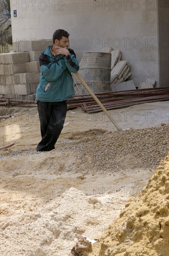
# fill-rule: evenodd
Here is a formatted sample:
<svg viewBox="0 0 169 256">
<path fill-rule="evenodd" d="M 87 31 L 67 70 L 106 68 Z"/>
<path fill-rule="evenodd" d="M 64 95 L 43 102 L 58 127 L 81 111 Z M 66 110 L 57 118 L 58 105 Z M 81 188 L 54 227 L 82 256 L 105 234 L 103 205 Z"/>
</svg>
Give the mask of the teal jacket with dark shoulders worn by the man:
<svg viewBox="0 0 169 256">
<path fill-rule="evenodd" d="M 53 57 L 50 47 L 40 55 L 40 82 L 36 91 L 36 99 L 44 102 L 65 101 L 75 94 L 71 73 L 79 70 L 78 60 L 72 49 L 65 56 Z"/>
</svg>

